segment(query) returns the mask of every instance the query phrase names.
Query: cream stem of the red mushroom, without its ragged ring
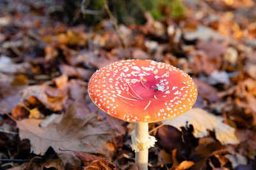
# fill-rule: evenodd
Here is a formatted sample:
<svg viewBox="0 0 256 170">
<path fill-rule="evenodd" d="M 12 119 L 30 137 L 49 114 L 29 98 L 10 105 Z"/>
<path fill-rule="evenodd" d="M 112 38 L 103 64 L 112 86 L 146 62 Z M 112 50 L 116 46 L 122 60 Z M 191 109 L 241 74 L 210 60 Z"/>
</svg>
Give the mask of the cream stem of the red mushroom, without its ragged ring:
<svg viewBox="0 0 256 170">
<path fill-rule="evenodd" d="M 138 122 L 135 123 L 135 139 L 142 145 L 148 141 L 148 123 Z M 141 147 L 143 150 L 135 153 L 135 164 L 139 170 L 148 169 L 148 148 Z"/>
</svg>

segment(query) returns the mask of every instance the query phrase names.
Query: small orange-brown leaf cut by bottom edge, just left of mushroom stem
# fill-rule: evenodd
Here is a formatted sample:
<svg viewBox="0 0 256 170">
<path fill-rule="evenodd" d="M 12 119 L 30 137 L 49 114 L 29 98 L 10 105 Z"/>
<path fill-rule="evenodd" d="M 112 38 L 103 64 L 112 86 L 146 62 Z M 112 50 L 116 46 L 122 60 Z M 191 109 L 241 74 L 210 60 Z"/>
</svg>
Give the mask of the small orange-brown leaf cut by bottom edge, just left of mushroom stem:
<svg viewBox="0 0 256 170">
<path fill-rule="evenodd" d="M 115 164 L 110 162 L 109 160 L 94 160 L 90 166 L 86 167 L 87 170 L 117 170 Z"/>
</svg>

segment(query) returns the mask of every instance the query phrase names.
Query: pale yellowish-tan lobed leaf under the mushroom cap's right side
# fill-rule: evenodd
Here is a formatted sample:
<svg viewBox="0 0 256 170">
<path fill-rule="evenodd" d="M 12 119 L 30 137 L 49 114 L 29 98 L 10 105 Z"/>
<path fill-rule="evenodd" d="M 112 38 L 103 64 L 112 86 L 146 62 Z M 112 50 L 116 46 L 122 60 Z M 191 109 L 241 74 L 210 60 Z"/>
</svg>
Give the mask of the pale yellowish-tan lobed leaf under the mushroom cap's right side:
<svg viewBox="0 0 256 170">
<path fill-rule="evenodd" d="M 216 138 L 223 145 L 239 143 L 235 129 L 224 124 L 223 120 L 223 117 L 217 117 L 200 108 L 193 108 L 179 117 L 164 120 L 163 124 L 172 125 L 180 131 L 182 131 L 181 127 L 191 124 L 193 125 L 193 134 L 196 138 L 207 136 L 207 130 L 210 130 L 215 132 Z"/>
</svg>

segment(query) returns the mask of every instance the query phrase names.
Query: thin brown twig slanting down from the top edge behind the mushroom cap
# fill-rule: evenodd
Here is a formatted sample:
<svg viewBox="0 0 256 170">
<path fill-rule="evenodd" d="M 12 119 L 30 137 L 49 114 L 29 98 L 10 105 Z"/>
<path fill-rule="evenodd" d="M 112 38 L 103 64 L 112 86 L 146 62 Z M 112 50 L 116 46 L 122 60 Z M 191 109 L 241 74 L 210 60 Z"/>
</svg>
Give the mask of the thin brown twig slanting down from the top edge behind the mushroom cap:
<svg viewBox="0 0 256 170">
<path fill-rule="evenodd" d="M 116 18 L 113 16 L 113 14 L 111 13 L 111 11 L 109 10 L 109 6 L 108 6 L 107 1 L 106 1 L 106 0 L 102 0 L 102 1 L 103 1 L 103 3 L 104 3 L 105 9 L 106 9 L 106 11 L 107 11 L 107 13 L 108 13 L 108 15 L 109 15 L 109 18 L 111 19 L 111 21 L 112 21 L 112 23 L 113 23 L 113 25 L 114 25 L 114 27 L 115 27 L 115 29 L 116 29 L 116 32 L 117 32 L 119 38 L 120 38 L 121 41 L 122 41 L 122 44 L 123 44 L 125 50 L 126 50 L 128 53 L 130 53 L 130 51 L 129 51 L 129 45 L 128 45 L 127 41 L 125 41 L 125 38 L 124 38 L 124 36 L 123 36 L 123 34 L 122 34 L 120 28 L 119 28 L 118 25 L 117 25 Z"/>
</svg>

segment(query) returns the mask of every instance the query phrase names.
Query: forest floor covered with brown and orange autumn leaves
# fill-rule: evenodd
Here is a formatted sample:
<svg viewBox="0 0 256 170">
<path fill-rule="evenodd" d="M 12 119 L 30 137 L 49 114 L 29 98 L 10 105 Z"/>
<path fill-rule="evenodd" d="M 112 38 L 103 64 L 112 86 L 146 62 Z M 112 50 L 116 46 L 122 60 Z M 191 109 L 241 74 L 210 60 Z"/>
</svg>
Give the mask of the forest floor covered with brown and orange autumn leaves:
<svg viewBox="0 0 256 170">
<path fill-rule="evenodd" d="M 145 13 L 145 24 L 90 27 L 67 22 L 64 2 L 0 1 L 0 169 L 137 169 L 132 124 L 99 111 L 87 92 L 97 69 L 122 59 L 188 73 L 194 107 L 222 117 L 239 140 L 164 125 L 152 132 L 149 169 L 256 169 L 255 1 L 184 0 L 179 19 Z"/>
</svg>

